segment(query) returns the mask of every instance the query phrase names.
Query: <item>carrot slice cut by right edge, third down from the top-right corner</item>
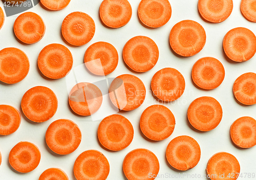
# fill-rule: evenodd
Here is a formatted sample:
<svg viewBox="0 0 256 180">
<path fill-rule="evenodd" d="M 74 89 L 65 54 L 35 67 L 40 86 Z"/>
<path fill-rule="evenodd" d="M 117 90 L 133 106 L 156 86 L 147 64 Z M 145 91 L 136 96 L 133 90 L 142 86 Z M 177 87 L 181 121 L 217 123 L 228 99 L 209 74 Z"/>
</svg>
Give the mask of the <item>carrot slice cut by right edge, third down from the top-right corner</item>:
<svg viewBox="0 0 256 180">
<path fill-rule="evenodd" d="M 256 74 L 245 73 L 239 76 L 234 81 L 233 94 L 242 104 L 256 104 Z"/>
</svg>

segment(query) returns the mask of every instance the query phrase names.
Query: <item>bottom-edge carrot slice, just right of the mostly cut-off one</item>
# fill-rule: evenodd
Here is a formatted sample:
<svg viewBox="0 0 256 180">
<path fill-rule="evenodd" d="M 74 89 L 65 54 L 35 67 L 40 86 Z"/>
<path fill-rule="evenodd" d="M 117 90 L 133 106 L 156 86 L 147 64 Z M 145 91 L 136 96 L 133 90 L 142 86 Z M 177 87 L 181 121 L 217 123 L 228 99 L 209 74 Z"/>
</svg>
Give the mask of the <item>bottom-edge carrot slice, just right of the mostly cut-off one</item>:
<svg viewBox="0 0 256 180">
<path fill-rule="evenodd" d="M 77 180 L 106 179 L 109 173 L 109 161 L 97 150 L 82 152 L 74 164 L 74 174 Z"/>
</svg>

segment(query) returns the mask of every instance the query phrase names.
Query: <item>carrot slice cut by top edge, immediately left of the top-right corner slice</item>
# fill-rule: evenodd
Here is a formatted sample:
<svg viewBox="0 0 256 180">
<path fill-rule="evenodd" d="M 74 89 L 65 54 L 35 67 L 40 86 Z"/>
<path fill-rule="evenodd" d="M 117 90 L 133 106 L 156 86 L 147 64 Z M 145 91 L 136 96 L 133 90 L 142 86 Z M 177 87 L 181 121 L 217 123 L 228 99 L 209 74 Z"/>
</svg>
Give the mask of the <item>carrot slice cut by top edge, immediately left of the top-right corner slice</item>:
<svg viewBox="0 0 256 180">
<path fill-rule="evenodd" d="M 232 0 L 199 0 L 198 10 L 201 16 L 210 22 L 222 22 L 226 20 L 232 10 Z"/>
</svg>

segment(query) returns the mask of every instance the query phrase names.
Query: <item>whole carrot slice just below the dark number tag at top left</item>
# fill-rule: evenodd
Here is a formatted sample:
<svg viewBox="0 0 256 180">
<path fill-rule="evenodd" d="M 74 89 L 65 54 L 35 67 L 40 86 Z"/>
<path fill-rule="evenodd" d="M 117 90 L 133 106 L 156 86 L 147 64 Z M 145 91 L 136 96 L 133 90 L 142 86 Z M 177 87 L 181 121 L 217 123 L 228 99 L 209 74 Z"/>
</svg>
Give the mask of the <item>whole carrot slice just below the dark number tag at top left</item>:
<svg viewBox="0 0 256 180">
<path fill-rule="evenodd" d="M 45 22 L 33 12 L 20 14 L 13 25 L 16 37 L 27 44 L 32 44 L 41 40 L 46 32 Z"/>
</svg>

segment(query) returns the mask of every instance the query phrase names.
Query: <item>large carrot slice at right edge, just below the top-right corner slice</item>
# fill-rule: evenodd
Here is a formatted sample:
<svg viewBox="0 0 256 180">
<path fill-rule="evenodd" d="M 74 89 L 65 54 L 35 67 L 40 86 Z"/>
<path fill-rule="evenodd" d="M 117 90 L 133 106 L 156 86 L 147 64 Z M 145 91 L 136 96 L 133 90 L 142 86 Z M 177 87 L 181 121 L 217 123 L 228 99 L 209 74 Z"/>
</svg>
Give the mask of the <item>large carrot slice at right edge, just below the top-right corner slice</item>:
<svg viewBox="0 0 256 180">
<path fill-rule="evenodd" d="M 251 59 L 256 53 L 256 36 L 246 28 L 234 28 L 223 39 L 227 57 L 236 62 Z"/>
</svg>

